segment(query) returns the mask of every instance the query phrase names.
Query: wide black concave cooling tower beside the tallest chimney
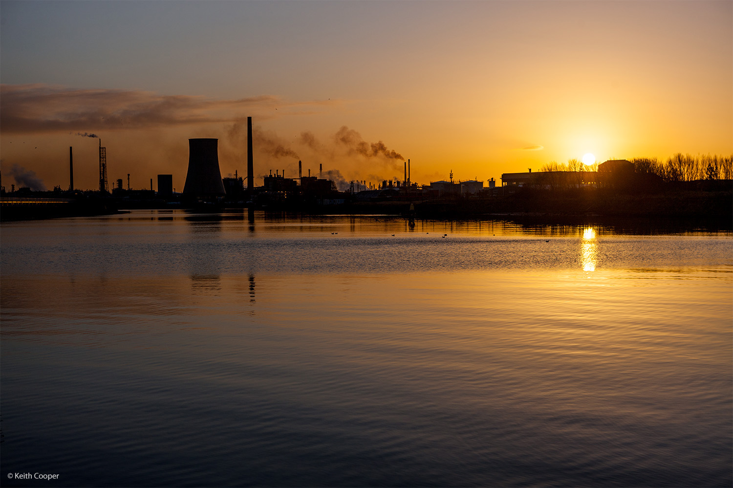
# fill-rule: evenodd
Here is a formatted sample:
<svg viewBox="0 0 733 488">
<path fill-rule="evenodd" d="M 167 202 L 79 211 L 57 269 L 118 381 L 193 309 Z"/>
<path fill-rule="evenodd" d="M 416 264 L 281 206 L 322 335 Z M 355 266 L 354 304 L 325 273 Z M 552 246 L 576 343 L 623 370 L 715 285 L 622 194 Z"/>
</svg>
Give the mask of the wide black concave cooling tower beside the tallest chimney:
<svg viewBox="0 0 733 488">
<path fill-rule="evenodd" d="M 188 173 L 183 195 L 198 198 L 226 195 L 219 170 L 218 139 L 188 140 Z"/>
</svg>

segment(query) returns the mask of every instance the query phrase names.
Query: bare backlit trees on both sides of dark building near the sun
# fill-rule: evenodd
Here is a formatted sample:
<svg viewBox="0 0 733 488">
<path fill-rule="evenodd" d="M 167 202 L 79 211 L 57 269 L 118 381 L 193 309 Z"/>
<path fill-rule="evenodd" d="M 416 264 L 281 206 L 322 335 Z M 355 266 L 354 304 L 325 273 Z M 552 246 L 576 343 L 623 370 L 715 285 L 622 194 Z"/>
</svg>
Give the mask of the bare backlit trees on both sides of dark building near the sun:
<svg viewBox="0 0 733 488">
<path fill-rule="evenodd" d="M 634 172 L 659 176 L 663 181 L 696 181 L 733 179 L 733 155 L 725 157 L 717 154 L 692 156 L 677 153 L 660 161 L 655 157 L 635 157 L 630 159 Z M 578 159 L 570 159 L 567 164 L 555 161 L 539 168 L 540 171 L 596 171 L 598 164 L 583 165 Z"/>
</svg>

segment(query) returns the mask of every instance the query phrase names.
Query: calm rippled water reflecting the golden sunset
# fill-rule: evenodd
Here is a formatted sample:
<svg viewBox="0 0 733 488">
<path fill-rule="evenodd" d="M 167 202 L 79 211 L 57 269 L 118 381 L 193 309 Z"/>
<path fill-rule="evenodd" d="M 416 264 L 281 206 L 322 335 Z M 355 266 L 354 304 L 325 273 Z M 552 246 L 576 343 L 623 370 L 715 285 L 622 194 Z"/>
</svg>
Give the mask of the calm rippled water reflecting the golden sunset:
<svg viewBox="0 0 733 488">
<path fill-rule="evenodd" d="M 0 239 L 3 486 L 733 484 L 729 234 L 134 211 Z"/>
</svg>

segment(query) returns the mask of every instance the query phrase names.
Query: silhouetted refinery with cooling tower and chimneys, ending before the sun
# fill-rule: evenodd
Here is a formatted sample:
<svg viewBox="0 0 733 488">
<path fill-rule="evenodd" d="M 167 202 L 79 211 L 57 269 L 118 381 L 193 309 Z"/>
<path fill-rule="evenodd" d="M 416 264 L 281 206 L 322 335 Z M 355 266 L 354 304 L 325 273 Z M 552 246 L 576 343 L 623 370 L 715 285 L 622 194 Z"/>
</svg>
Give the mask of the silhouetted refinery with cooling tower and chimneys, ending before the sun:
<svg viewBox="0 0 733 488">
<path fill-rule="evenodd" d="M 95 136 L 96 137 L 96 136 Z M 262 186 L 254 186 L 254 156 L 252 143 L 252 118 L 247 118 L 247 170 L 246 176 L 235 175 L 222 178 L 218 160 L 218 139 L 191 138 L 188 140 L 188 168 L 182 192 L 173 187 L 172 174 L 157 175 L 157 191 L 150 179 L 150 187 L 144 189 L 130 188 L 130 174 L 127 181 L 116 179 L 108 181 L 107 149 L 99 140 L 99 187 L 95 192 L 97 198 L 109 198 L 119 208 L 140 206 L 334 206 L 348 202 L 376 202 L 421 200 L 423 198 L 446 198 L 454 196 L 479 195 L 484 191 L 484 182 L 477 179 L 454 181 L 450 173 L 449 181 L 433 181 L 419 185 L 410 177 L 410 159 L 403 162 L 404 178 L 385 179 L 377 182 L 366 180 L 347 181 L 347 188 L 339 190 L 336 182 L 324 177 L 323 164 L 317 171 L 307 169 L 303 174 L 303 162 L 298 161 L 298 176 L 286 177 L 284 169 L 268 169 L 262 177 Z M 487 181 L 488 188 L 495 187 L 494 179 Z M 27 188 L 15 189 L 4 195 L 22 197 L 30 192 Z M 47 192 L 48 193 L 48 192 Z M 62 190 L 54 188 L 55 196 L 73 198 L 81 194 L 89 195 L 89 191 L 81 192 L 74 186 L 73 147 L 69 148 L 69 186 Z"/>
</svg>

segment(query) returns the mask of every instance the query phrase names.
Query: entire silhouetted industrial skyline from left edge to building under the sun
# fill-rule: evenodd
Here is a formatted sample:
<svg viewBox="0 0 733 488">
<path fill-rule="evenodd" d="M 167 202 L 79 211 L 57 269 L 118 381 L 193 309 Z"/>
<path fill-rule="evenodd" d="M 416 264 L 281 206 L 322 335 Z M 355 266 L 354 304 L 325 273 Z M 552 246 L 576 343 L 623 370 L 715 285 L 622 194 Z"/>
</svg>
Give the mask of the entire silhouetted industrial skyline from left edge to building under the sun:
<svg viewBox="0 0 733 488">
<path fill-rule="evenodd" d="M 192 138 L 188 140 L 188 171 L 183 192 L 173 187 L 173 175 L 158 174 L 158 190 L 131 189 L 128 174 L 126 187 L 117 179 L 109 188 L 107 177 L 106 147 L 99 143 L 99 189 L 81 191 L 74 186 L 73 148 L 69 148 L 69 188 L 60 186 L 50 192 L 33 192 L 30 188 L 10 191 L 1 186 L 2 219 L 61 217 L 67 215 L 104 214 L 118 209 L 155 208 L 248 208 L 283 209 L 289 211 L 394 211 L 401 206 L 421 205 L 433 209 L 437 206 L 456 205 L 470 200 L 507 200 L 523 189 L 534 190 L 583 190 L 611 189 L 633 190 L 651 193 L 663 184 L 658 174 L 636 171 L 635 164 L 626 159 L 614 159 L 600 163 L 597 171 L 550 171 L 503 173 L 501 184 L 491 178 L 454 181 L 449 180 L 417 184 L 410 179 L 410 160 L 404 162 L 404 178 L 383 180 L 374 184 L 367 181 L 350 181 L 345 191 L 336 188 L 336 182 L 323 177 L 323 165 L 317 175 L 308 170 L 303 176 L 303 163 L 298 161 L 298 177 L 286 178 L 285 170 L 269 170 L 262 186 L 254 186 L 254 158 L 252 147 L 252 120 L 247 118 L 247 173 L 246 178 L 237 172 L 233 177 L 221 177 L 218 162 L 218 139 Z M 723 181 L 721 181 L 723 183 Z M 343 184 L 343 182 L 342 182 Z M 728 185 L 729 186 L 729 185 Z M 723 190 L 726 189 L 723 183 Z M 526 193 L 526 192 L 525 192 Z M 391 207 L 390 207 L 391 205 Z M 461 204 L 465 206 L 464 204 Z M 511 206 L 485 203 L 484 209 L 503 211 Z M 525 206 L 526 208 L 526 206 Z M 590 207 L 589 207 L 590 208 Z M 320 210 L 319 210 L 320 209 Z"/>
</svg>

